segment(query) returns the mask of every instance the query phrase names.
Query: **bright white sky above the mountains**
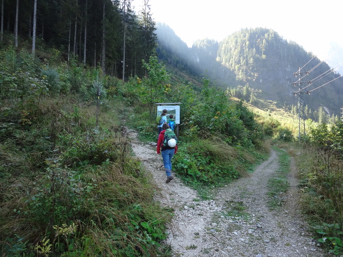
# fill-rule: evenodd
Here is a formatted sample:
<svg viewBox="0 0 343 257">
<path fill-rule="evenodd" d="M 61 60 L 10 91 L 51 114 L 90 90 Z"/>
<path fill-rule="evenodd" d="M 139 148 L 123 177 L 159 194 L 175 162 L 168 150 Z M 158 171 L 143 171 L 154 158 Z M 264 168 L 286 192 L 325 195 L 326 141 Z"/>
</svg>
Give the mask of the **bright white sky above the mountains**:
<svg viewBox="0 0 343 257">
<path fill-rule="evenodd" d="M 143 2 L 133 0 L 135 11 Z M 221 41 L 241 28 L 255 27 L 273 29 L 321 60 L 332 59 L 330 44 L 343 46 L 343 0 L 149 0 L 149 4 L 154 21 L 169 25 L 189 47 L 197 39 Z"/>
</svg>

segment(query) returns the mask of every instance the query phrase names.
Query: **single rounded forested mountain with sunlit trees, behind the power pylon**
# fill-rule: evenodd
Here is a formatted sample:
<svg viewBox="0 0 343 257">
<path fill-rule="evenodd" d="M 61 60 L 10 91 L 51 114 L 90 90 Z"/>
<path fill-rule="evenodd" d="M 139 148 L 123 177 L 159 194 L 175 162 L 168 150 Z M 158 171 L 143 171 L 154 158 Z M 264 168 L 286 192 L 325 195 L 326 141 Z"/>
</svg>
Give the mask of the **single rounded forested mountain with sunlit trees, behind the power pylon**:
<svg viewBox="0 0 343 257">
<path fill-rule="evenodd" d="M 298 85 L 293 85 L 293 82 L 299 76 L 294 77 L 294 72 L 301 67 L 304 73 L 303 87 L 313 80 L 305 92 L 339 77 L 335 72 L 330 73 L 330 67 L 325 62 L 296 43 L 288 43 L 270 29 L 242 29 L 232 34 L 220 43 L 218 59 L 222 65 L 233 70 L 238 79 L 249 83 L 252 88 L 262 90 L 263 98 L 281 103 L 297 102 L 293 93 L 298 91 Z M 305 76 L 305 72 L 309 72 L 308 75 Z M 320 81 L 316 79 L 318 76 L 322 78 Z M 337 113 L 342 104 L 342 82 L 342 79 L 332 81 L 311 96 L 304 96 L 306 103 L 312 109 L 322 105 Z"/>
</svg>

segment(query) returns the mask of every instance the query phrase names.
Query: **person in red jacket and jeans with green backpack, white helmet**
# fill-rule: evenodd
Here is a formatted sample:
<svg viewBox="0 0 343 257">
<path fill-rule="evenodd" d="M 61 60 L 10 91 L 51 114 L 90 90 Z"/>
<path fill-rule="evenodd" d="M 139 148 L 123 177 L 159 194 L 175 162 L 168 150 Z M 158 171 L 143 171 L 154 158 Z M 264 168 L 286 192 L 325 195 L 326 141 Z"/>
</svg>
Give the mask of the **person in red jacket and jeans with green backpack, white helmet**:
<svg viewBox="0 0 343 257">
<path fill-rule="evenodd" d="M 157 140 L 157 154 L 162 154 L 164 168 L 166 170 L 166 183 L 172 181 L 172 157 L 177 152 L 177 138 L 168 124 L 162 125 L 162 131 Z"/>
</svg>

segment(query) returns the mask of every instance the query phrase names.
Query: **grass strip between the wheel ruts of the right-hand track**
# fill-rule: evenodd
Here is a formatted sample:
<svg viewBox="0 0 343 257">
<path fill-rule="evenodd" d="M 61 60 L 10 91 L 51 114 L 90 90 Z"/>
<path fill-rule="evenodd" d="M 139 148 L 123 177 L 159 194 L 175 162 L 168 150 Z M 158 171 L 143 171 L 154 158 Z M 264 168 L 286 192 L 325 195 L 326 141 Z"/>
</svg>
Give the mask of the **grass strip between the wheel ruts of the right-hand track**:
<svg viewBox="0 0 343 257">
<path fill-rule="evenodd" d="M 281 207 L 284 200 L 283 194 L 289 188 L 287 175 L 290 172 L 290 155 L 275 146 L 273 149 L 278 152 L 279 168 L 275 171 L 272 178 L 268 180 L 268 206 L 271 209 Z"/>
</svg>

